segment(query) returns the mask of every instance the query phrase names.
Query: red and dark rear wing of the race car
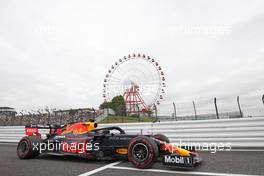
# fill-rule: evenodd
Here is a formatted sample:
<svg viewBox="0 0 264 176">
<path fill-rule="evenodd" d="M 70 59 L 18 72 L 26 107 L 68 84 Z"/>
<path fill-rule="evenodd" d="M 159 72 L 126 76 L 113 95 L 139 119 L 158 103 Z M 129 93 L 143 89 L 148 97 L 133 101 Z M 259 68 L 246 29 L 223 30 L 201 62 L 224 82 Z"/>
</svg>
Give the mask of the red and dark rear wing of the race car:
<svg viewBox="0 0 264 176">
<path fill-rule="evenodd" d="M 30 124 L 25 126 L 25 134 L 26 136 L 32 136 L 32 135 L 41 135 L 39 133 L 39 129 L 49 129 L 49 134 L 61 134 L 62 128 L 64 125 L 37 125 L 37 124 Z"/>
</svg>

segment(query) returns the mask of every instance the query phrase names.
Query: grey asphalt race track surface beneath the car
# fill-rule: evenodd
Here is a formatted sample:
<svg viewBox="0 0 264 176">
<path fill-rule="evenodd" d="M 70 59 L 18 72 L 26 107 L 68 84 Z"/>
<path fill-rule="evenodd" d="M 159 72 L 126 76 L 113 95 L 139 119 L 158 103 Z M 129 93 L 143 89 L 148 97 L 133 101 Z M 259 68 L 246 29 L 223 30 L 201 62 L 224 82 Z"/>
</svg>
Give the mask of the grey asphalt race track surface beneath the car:
<svg viewBox="0 0 264 176">
<path fill-rule="evenodd" d="M 108 167 L 113 161 L 90 161 L 72 156 L 41 155 L 35 159 L 20 160 L 16 156 L 15 144 L 0 144 L 0 175 L 71 176 L 84 173 L 97 176 L 264 175 L 263 151 L 240 150 L 215 154 L 201 152 L 200 155 L 203 163 L 191 171 L 164 168 L 160 162 L 149 170 L 136 170 L 125 161 Z M 101 169 L 104 166 L 106 167 Z"/>
</svg>

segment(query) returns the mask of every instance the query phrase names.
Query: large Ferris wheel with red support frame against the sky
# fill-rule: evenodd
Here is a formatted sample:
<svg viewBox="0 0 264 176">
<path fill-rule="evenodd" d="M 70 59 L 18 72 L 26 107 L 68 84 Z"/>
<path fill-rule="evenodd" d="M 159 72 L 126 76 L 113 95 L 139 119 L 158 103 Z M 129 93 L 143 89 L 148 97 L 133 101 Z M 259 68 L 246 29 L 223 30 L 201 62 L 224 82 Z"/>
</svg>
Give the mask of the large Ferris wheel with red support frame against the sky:
<svg viewBox="0 0 264 176">
<path fill-rule="evenodd" d="M 128 113 L 147 111 L 159 105 L 165 93 L 165 75 L 156 59 L 145 54 L 129 54 L 107 70 L 102 97 L 111 101 L 122 95 Z"/>
</svg>

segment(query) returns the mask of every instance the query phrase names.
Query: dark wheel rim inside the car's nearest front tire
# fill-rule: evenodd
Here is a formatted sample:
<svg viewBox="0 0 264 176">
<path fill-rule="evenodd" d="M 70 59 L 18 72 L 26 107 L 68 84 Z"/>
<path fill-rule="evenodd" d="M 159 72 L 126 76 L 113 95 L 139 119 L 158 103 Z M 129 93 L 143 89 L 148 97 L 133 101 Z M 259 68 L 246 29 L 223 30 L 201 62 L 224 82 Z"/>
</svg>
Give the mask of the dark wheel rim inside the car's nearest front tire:
<svg viewBox="0 0 264 176">
<path fill-rule="evenodd" d="M 144 162 L 149 154 L 148 147 L 143 143 L 138 143 L 132 148 L 132 157 L 134 160 Z"/>
</svg>

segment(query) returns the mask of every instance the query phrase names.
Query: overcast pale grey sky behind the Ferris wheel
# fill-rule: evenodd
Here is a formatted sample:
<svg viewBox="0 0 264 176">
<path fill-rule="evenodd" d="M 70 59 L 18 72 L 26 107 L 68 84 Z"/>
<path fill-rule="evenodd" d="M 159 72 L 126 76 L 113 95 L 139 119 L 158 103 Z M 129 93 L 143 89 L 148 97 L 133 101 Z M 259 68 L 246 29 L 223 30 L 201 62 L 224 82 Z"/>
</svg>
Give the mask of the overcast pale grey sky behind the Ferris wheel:
<svg viewBox="0 0 264 176">
<path fill-rule="evenodd" d="M 240 95 L 264 114 L 263 31 L 261 0 L 1 0 L 0 106 L 98 107 L 108 68 L 145 53 L 166 74 L 161 108 L 236 111 Z"/>
</svg>

